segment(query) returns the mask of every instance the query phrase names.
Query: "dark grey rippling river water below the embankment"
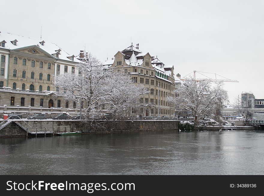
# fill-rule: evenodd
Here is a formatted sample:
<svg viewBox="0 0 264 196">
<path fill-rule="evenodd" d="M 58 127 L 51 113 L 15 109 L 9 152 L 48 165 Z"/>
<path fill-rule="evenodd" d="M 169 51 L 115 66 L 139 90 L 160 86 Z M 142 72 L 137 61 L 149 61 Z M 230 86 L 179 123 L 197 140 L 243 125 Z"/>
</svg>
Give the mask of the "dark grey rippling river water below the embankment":
<svg viewBox="0 0 264 196">
<path fill-rule="evenodd" d="M 264 131 L 0 139 L 0 174 L 263 175 Z"/>
</svg>

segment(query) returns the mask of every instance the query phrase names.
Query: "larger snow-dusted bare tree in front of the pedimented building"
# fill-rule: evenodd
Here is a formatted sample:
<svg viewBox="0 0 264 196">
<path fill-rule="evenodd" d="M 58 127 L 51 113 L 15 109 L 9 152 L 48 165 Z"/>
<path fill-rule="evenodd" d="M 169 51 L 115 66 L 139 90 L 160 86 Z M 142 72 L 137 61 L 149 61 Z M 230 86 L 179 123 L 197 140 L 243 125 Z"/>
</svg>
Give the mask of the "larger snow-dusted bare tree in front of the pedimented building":
<svg viewBox="0 0 264 196">
<path fill-rule="evenodd" d="M 58 95 L 81 103 L 81 107 L 84 104 L 84 115 L 89 119 L 107 110 L 126 115 L 131 107 L 137 106 L 140 95 L 147 93 L 143 85 L 135 85 L 122 69 L 105 68 L 90 53 L 75 67 L 76 72 L 58 75 L 54 83 L 59 88 Z"/>
</svg>

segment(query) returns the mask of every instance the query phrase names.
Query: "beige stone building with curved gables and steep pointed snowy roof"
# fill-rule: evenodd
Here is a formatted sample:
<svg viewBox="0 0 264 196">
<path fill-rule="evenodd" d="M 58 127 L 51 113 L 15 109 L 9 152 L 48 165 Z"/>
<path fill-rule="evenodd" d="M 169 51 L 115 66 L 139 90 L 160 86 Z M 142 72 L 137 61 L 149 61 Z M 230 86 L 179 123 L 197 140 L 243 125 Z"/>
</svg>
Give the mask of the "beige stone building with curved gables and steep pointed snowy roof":
<svg viewBox="0 0 264 196">
<path fill-rule="evenodd" d="M 167 102 L 167 97 L 174 95 L 175 89 L 173 65 L 166 66 L 148 52 L 140 51 L 138 44 L 136 47 L 132 44 L 118 51 L 114 58 L 107 60 L 104 65 L 130 74 L 135 85 L 143 84 L 149 90 L 149 94 L 139 100 L 139 105 L 147 106 L 132 109 L 132 115 L 174 116 L 174 107 Z"/>
</svg>

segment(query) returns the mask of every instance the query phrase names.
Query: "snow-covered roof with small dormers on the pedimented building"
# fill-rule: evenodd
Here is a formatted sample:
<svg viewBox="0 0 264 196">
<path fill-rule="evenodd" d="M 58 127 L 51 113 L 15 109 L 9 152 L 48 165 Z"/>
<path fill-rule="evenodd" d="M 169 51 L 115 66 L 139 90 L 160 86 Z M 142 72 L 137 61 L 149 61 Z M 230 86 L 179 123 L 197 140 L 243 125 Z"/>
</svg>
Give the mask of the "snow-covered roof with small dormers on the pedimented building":
<svg viewBox="0 0 264 196">
<path fill-rule="evenodd" d="M 70 62 L 76 62 L 79 63 L 80 60 L 73 58 L 73 60 L 69 57 L 75 57 L 74 55 L 68 54 L 66 51 L 64 51 L 62 48 L 60 48 L 58 45 L 52 42 L 47 42 L 44 40 L 38 40 L 30 37 L 24 37 L 21 35 L 1 32 L 0 33 L 0 43 L 4 42 L 4 47 L 0 45 L 1 48 L 9 49 L 9 50 L 17 50 L 20 48 L 27 48 L 29 46 L 37 46 L 38 48 L 41 48 L 46 53 L 50 54 L 50 57 L 54 59 L 61 59 L 61 60 L 67 60 Z M 58 54 L 58 57 L 56 57 L 55 54 Z"/>
</svg>

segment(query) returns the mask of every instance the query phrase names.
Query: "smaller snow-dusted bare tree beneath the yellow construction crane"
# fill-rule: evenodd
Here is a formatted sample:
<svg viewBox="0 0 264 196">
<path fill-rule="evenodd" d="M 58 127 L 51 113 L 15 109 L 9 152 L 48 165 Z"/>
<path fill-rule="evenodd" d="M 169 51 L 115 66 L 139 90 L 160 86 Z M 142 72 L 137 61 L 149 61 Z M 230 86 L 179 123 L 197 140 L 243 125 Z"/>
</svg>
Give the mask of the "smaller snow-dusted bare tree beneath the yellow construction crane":
<svg viewBox="0 0 264 196">
<path fill-rule="evenodd" d="M 196 124 L 200 117 L 216 119 L 216 111 L 220 110 L 222 102 L 228 98 L 223 83 L 196 81 L 192 78 L 188 78 L 175 89 L 175 94 L 177 96 L 168 98 L 170 103 L 192 114 Z"/>
</svg>

